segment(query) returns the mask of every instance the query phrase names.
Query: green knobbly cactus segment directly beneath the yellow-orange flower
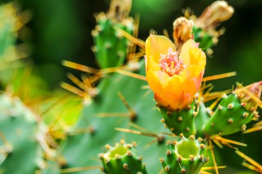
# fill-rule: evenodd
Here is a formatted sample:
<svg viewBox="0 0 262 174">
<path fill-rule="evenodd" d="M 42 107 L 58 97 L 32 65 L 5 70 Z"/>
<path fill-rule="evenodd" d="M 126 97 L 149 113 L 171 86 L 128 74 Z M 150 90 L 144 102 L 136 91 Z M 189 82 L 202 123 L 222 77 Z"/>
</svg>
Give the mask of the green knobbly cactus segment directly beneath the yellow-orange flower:
<svg viewBox="0 0 262 174">
<path fill-rule="evenodd" d="M 192 134 L 196 134 L 196 125 L 195 125 L 195 112 L 194 104 L 191 104 L 189 108 L 183 109 L 181 111 L 167 111 L 163 107 L 159 107 L 161 114 L 163 116 L 163 122 L 167 127 L 176 135 L 183 133 L 186 137 L 189 137 Z"/>
</svg>

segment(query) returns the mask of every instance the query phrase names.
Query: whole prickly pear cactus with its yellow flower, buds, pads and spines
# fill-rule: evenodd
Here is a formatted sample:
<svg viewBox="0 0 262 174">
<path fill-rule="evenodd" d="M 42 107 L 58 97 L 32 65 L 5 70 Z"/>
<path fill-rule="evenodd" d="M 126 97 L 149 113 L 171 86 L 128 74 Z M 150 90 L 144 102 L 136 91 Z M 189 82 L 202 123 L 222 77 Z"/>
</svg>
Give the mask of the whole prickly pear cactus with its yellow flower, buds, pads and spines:
<svg viewBox="0 0 262 174">
<path fill-rule="evenodd" d="M 196 48 L 198 44 L 195 42 L 199 41 L 199 46 L 208 51 L 218 36 L 210 34 L 210 27 L 214 30 L 217 22 L 229 18 L 231 8 L 226 5 L 228 13 L 223 20 L 211 10 L 208 14 L 215 15 L 211 26 L 201 25 L 211 18 L 205 13 L 195 22 L 194 28 L 193 21 L 179 18 L 173 26 L 175 43 L 165 36 L 153 34 L 144 43 L 131 35 L 134 23 L 132 18 L 128 18 L 130 3 L 130 0 L 112 0 L 109 12 L 96 16 L 97 26 L 92 31 L 95 46 L 92 50 L 103 70 L 65 63 L 71 68 L 78 67 L 94 74 L 83 78 L 83 82 L 68 75 L 82 90 L 65 83 L 61 85 L 83 97 L 83 111 L 76 125 L 69 127 L 61 123 L 62 126 L 59 126 L 55 122 L 61 121 L 60 116 L 53 121 L 53 115 L 49 114 L 45 120 L 50 124 L 47 129 L 38 112 L 32 112 L 32 108 L 25 106 L 17 97 L 7 95 L 7 92 L 0 95 L 3 108 L 0 110 L 0 145 L 4 152 L 0 156 L 0 172 L 93 174 L 93 169 L 102 169 L 105 174 L 155 174 L 159 171 L 165 174 L 200 174 L 204 173 L 202 170 L 205 168 L 202 167 L 209 159 L 207 154 L 210 150 L 218 173 L 212 141 L 219 146 L 233 147 L 231 143 L 243 145 L 220 135 L 244 130 L 247 123 L 257 118 L 262 82 L 251 87 L 238 85 L 232 94 L 224 94 L 220 102 L 217 99 L 212 107 L 206 107 L 205 99 L 210 91 L 204 92 L 205 83 L 201 87 L 206 56 Z M 214 12 L 223 4 L 225 2 L 215 2 L 209 9 Z M 191 39 L 192 33 L 195 41 Z M 135 62 L 139 65 L 135 73 L 126 71 L 132 66 L 129 61 L 122 66 L 127 57 L 127 38 L 139 43 L 141 53 L 145 51 L 146 54 L 146 65 L 143 61 Z M 113 73 L 107 76 L 108 72 Z M 96 84 L 98 79 L 101 80 Z M 147 85 L 154 95 L 150 89 L 144 89 L 149 88 Z M 222 94 L 217 93 L 217 97 Z M 61 101 L 60 104 L 63 105 Z M 63 112 L 71 107 L 70 104 L 74 102 L 63 105 Z M 46 113 L 52 104 L 39 105 L 39 110 L 47 107 Z M 213 108 L 216 108 L 214 112 Z M 196 136 L 199 137 L 197 140 Z M 113 147 L 109 145 L 119 139 L 123 140 Z M 167 146 L 165 139 L 171 139 Z M 134 143 L 126 144 L 125 141 Z M 107 144 L 106 152 L 101 154 L 104 144 Z M 135 144 L 139 145 L 137 149 Z M 165 160 L 160 158 L 165 154 Z M 146 166 L 142 163 L 142 156 Z M 17 161 L 21 157 L 25 160 Z M 159 158 L 162 166 L 157 160 Z M 13 167 L 13 164 L 16 166 Z"/>
</svg>

